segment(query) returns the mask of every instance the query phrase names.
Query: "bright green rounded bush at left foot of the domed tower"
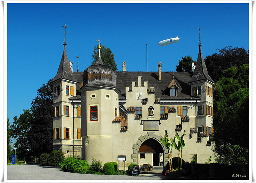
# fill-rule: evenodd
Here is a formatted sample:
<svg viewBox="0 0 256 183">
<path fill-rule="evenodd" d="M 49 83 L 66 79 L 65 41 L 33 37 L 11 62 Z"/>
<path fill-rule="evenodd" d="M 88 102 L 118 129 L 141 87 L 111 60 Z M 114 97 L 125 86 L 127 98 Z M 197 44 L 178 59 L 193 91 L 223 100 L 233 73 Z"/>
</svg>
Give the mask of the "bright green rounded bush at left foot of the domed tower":
<svg viewBox="0 0 256 183">
<path fill-rule="evenodd" d="M 80 168 L 80 167 L 84 167 L 84 168 Z M 75 159 L 73 157 L 68 157 L 65 159 L 61 169 L 62 171 L 66 171 L 66 172 L 79 173 L 79 172 L 86 171 L 87 168 L 85 167 L 88 167 L 89 169 L 89 164 L 87 163 L 87 161 Z"/>
</svg>

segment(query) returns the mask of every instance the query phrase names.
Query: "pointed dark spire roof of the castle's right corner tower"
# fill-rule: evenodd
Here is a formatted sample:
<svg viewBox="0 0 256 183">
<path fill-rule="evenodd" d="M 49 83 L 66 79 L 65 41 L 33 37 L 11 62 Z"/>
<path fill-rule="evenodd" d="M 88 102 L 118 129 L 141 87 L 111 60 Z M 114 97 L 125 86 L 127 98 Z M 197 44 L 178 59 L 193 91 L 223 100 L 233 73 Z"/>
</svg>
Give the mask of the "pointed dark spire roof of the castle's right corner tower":
<svg viewBox="0 0 256 183">
<path fill-rule="evenodd" d="M 192 83 L 200 80 L 208 80 L 214 83 L 214 81 L 208 74 L 208 71 L 204 62 L 202 50 L 201 50 L 201 45 L 199 45 L 199 53 L 196 61 L 196 68 L 195 68 L 194 75 L 192 76 L 191 80 L 188 83 Z"/>
</svg>

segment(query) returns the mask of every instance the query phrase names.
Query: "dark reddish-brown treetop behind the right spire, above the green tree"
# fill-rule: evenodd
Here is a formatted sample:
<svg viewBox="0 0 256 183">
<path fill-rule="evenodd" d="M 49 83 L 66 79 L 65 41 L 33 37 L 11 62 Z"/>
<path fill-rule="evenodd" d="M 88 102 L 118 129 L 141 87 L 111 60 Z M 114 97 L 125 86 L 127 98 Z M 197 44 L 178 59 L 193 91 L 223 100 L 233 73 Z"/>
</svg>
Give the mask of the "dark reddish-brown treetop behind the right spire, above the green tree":
<svg viewBox="0 0 256 183">
<path fill-rule="evenodd" d="M 244 48 L 233 48 L 231 46 L 217 49 L 220 53 L 206 56 L 204 62 L 214 82 L 217 82 L 222 75 L 222 71 L 232 66 L 242 66 L 249 63 L 249 51 Z"/>
</svg>

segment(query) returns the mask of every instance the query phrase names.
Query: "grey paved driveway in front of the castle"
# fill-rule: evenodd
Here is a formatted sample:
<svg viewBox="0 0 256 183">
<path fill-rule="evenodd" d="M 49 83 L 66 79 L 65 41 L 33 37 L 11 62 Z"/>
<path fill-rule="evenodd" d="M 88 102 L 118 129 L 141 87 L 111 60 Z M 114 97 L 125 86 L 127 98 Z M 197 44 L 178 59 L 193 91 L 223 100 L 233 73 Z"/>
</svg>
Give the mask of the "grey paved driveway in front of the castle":
<svg viewBox="0 0 256 183">
<path fill-rule="evenodd" d="M 170 178 L 169 178 L 170 179 Z M 180 177 L 182 179 L 182 177 Z M 60 167 L 45 167 L 41 165 L 8 165 L 7 181 L 10 180 L 168 180 L 161 173 L 142 174 L 140 176 L 129 175 L 91 175 L 68 173 L 60 170 Z"/>
</svg>

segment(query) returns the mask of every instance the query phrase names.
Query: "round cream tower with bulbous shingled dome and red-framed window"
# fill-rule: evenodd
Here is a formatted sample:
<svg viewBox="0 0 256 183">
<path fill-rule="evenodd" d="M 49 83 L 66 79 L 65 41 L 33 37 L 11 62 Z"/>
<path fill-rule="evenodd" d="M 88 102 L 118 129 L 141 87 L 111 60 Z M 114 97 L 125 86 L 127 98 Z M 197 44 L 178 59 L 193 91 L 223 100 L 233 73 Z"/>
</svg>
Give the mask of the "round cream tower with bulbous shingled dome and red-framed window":
<svg viewBox="0 0 256 183">
<path fill-rule="evenodd" d="M 81 133 L 83 159 L 112 161 L 112 121 L 118 112 L 116 73 L 100 58 L 83 73 L 81 92 Z"/>
</svg>

